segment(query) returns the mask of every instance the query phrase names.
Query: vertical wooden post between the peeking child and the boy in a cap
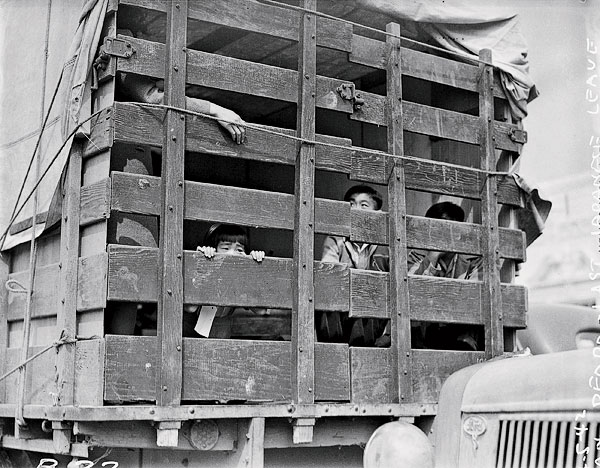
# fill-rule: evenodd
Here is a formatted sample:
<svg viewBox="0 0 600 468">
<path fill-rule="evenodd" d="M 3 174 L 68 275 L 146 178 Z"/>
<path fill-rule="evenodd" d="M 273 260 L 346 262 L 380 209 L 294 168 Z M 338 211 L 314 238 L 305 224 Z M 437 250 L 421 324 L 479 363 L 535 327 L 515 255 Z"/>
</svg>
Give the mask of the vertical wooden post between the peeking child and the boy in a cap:
<svg viewBox="0 0 600 468">
<path fill-rule="evenodd" d="M 303 6 L 316 10 L 316 0 L 304 0 Z M 298 44 L 297 136 L 315 139 L 316 95 L 316 17 L 304 13 Z M 294 216 L 294 279 L 292 302 L 292 399 L 295 403 L 313 403 L 314 362 L 314 182 L 315 147 L 299 143 L 296 157 Z M 312 425 L 297 421 L 294 442 L 310 442 Z"/>
</svg>

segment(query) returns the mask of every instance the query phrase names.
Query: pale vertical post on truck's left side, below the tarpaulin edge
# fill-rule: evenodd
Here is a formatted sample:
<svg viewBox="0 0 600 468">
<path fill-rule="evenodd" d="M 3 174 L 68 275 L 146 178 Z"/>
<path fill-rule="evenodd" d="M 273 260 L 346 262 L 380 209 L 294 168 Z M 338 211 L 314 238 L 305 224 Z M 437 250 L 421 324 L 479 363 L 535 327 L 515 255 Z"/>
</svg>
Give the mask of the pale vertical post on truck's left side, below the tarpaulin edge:
<svg viewBox="0 0 600 468">
<path fill-rule="evenodd" d="M 81 194 L 81 165 L 83 146 L 74 140 L 63 187 L 62 220 L 60 231 L 60 307 L 56 322 L 61 338 L 74 340 L 77 334 L 77 271 L 79 267 L 79 210 Z M 56 393 L 59 405 L 72 405 L 75 391 L 75 343 L 58 348 L 56 358 Z M 53 422 L 54 448 L 68 453 L 71 440 L 70 426 Z"/>
</svg>

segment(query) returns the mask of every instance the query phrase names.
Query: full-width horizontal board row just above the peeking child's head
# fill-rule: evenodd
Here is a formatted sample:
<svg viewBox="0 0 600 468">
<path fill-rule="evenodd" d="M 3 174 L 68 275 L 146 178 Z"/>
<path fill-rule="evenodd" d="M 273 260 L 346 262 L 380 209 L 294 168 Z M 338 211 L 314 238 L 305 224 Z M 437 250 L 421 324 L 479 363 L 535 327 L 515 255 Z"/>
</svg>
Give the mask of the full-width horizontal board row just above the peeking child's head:
<svg viewBox="0 0 600 468">
<path fill-rule="evenodd" d="M 294 196 L 278 192 L 186 182 L 185 219 L 235 223 L 273 229 L 294 228 Z M 160 215 L 160 179 L 113 172 L 112 209 L 145 215 Z M 387 213 L 351 210 L 348 203 L 316 199 L 315 231 L 350 237 L 356 242 L 386 244 Z M 481 254 L 480 225 L 416 216 L 407 217 L 410 248 Z M 503 258 L 525 258 L 523 233 L 501 229 Z"/>
</svg>

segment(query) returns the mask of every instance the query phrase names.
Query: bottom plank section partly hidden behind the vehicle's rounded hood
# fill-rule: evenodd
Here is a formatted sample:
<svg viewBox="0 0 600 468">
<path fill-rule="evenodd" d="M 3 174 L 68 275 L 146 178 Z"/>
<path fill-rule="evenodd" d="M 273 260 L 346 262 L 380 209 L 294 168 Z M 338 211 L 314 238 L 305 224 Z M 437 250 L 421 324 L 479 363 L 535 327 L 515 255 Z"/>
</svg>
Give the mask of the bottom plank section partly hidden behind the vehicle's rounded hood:
<svg viewBox="0 0 600 468">
<path fill-rule="evenodd" d="M 451 374 L 484 360 L 484 353 L 478 351 L 414 349 L 412 352 L 412 387 L 419 403 L 437 403 L 442 385 Z"/>
</svg>

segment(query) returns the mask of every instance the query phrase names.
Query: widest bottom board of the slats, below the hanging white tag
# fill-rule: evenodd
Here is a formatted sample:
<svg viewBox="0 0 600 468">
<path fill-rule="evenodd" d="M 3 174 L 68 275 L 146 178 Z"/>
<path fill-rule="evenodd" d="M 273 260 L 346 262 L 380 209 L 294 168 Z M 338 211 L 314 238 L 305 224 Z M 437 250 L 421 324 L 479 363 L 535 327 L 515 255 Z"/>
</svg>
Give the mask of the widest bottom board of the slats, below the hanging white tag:
<svg viewBox="0 0 600 468">
<path fill-rule="evenodd" d="M 155 367 L 155 337 L 107 335 L 104 398 L 154 400 Z M 317 343 L 315 369 L 315 399 L 349 399 L 346 345 Z M 182 399 L 289 401 L 290 370 L 290 342 L 185 338 Z"/>
</svg>

